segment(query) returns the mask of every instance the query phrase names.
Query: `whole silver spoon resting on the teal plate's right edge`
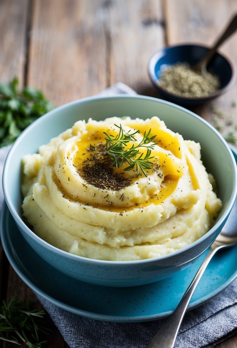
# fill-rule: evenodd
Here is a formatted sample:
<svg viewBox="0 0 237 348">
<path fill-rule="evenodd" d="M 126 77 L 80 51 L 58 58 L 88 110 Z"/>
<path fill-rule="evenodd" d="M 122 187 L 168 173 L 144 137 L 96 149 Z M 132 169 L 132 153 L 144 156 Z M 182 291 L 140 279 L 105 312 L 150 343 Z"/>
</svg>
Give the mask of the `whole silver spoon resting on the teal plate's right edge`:
<svg viewBox="0 0 237 348">
<path fill-rule="evenodd" d="M 226 224 L 212 243 L 209 253 L 187 288 L 177 308 L 162 326 L 161 330 L 155 335 L 147 348 L 172 348 L 174 346 L 188 304 L 207 265 L 218 250 L 234 245 L 235 243 L 237 243 L 237 199 L 235 200 Z"/>
</svg>

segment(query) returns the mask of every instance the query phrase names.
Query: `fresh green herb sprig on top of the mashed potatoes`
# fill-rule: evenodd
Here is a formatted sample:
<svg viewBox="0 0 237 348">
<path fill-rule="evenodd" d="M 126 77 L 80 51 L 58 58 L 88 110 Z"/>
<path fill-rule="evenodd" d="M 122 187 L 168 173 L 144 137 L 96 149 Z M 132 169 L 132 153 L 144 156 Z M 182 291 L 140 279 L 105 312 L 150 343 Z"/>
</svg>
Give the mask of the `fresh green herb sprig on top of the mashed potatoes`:
<svg viewBox="0 0 237 348">
<path fill-rule="evenodd" d="M 155 139 L 156 135 L 150 136 L 150 133 L 152 131 L 152 129 L 150 129 L 148 133 L 144 133 L 142 140 L 138 143 L 134 135 L 140 133 L 140 130 L 136 130 L 133 133 L 131 133 L 131 130 L 125 132 L 121 124 L 120 126 L 116 124 L 114 125 L 119 129 L 119 132 L 118 134 L 116 134 L 116 136 L 109 135 L 108 133 L 104 132 L 104 134 L 106 135 L 106 152 L 108 156 L 113 160 L 112 166 L 119 168 L 125 161 L 128 163 L 128 166 L 124 168 L 124 171 L 130 171 L 131 169 L 136 167 L 137 176 L 142 172 L 147 177 L 146 169 L 152 169 L 152 167 L 150 166 L 152 164 L 150 159 L 154 158 L 154 156 L 150 156 L 151 149 L 153 149 L 157 144 L 151 144 L 151 142 Z M 128 144 L 130 142 L 132 142 L 133 144 L 130 148 L 128 148 Z M 134 142 L 137 142 L 138 144 L 135 145 Z M 144 152 L 140 152 L 139 148 L 141 147 L 147 149 L 145 155 Z"/>
</svg>

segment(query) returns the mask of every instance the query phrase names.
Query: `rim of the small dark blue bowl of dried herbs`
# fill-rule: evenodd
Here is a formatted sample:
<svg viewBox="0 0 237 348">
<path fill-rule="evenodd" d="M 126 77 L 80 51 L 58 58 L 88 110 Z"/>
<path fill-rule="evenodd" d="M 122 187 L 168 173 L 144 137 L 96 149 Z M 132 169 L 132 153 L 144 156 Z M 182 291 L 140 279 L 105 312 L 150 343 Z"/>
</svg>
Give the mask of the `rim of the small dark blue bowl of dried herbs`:
<svg viewBox="0 0 237 348">
<path fill-rule="evenodd" d="M 218 97 L 219 95 L 222 95 L 223 93 L 225 93 L 235 82 L 235 79 L 236 79 L 236 69 L 235 69 L 234 64 L 230 60 L 230 58 L 227 57 L 226 55 L 220 53 L 219 51 L 216 51 L 216 54 L 218 54 L 219 56 L 224 58 L 224 60 L 226 60 L 227 63 L 229 64 L 229 66 L 230 66 L 231 78 L 230 78 L 229 82 L 226 84 L 226 86 L 224 86 L 221 89 L 218 89 L 216 92 L 211 93 L 211 94 L 209 94 L 207 96 L 203 96 L 203 97 L 184 97 L 184 96 L 181 96 L 181 95 L 178 95 L 178 94 L 170 93 L 166 89 L 162 88 L 161 86 L 159 86 L 157 84 L 157 80 L 158 79 L 157 79 L 157 76 L 155 74 L 155 65 L 158 62 L 158 59 L 161 58 L 162 52 L 164 53 L 166 50 L 169 50 L 169 49 L 178 48 L 178 47 L 187 47 L 187 46 L 189 46 L 189 47 L 206 48 L 206 49 L 210 48 L 209 46 L 206 46 L 206 45 L 203 45 L 203 44 L 198 44 L 198 43 L 192 44 L 191 42 L 187 42 L 187 43 L 183 43 L 183 44 L 170 45 L 170 46 L 163 47 L 162 49 L 156 51 L 150 57 L 150 60 L 149 60 L 149 63 L 148 63 L 148 74 L 149 74 L 149 77 L 152 80 L 153 84 L 157 87 L 157 89 L 159 89 L 164 95 L 171 96 L 172 98 L 177 98 L 179 100 L 183 100 L 184 102 L 185 101 L 197 101 L 197 102 L 198 101 L 199 102 L 200 101 L 207 101 L 207 100 L 210 100 L 212 98 Z"/>
</svg>

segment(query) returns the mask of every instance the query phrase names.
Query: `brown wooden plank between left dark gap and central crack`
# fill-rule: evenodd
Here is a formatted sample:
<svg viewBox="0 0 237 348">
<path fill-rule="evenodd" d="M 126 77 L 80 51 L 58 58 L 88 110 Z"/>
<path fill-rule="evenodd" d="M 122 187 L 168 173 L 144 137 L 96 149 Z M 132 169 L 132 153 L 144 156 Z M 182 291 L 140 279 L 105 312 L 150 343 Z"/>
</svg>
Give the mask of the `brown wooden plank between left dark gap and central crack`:
<svg viewBox="0 0 237 348">
<path fill-rule="evenodd" d="M 28 84 L 56 105 L 106 88 L 103 1 L 33 3 Z"/>
</svg>

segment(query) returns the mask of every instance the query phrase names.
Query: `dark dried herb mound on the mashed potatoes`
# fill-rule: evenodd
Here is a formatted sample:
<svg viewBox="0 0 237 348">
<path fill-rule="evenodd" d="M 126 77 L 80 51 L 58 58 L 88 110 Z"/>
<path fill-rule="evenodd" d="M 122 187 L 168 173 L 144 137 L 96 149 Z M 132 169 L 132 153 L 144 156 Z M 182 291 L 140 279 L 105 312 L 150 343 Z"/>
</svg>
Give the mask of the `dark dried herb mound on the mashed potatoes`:
<svg viewBox="0 0 237 348">
<path fill-rule="evenodd" d="M 99 189 L 119 191 L 131 185 L 131 180 L 125 178 L 123 173 L 115 173 L 111 167 L 111 161 L 107 156 L 106 148 L 100 145 L 98 148 L 88 149 L 90 156 L 83 162 L 78 172 L 83 179 Z"/>
</svg>

